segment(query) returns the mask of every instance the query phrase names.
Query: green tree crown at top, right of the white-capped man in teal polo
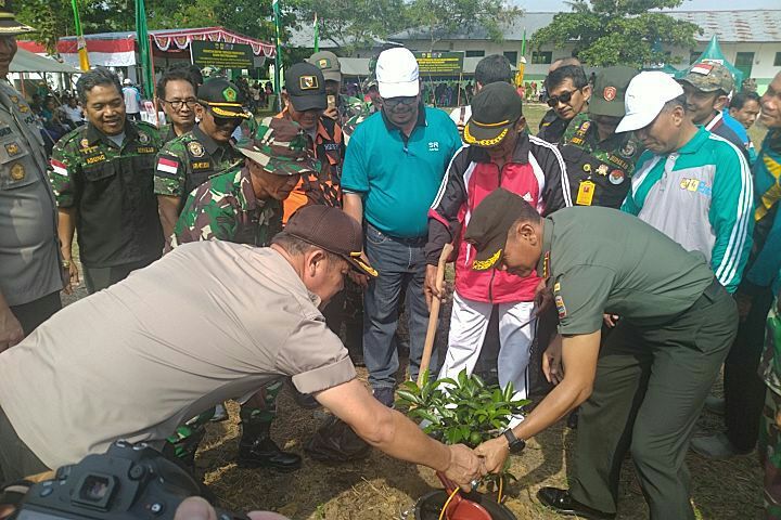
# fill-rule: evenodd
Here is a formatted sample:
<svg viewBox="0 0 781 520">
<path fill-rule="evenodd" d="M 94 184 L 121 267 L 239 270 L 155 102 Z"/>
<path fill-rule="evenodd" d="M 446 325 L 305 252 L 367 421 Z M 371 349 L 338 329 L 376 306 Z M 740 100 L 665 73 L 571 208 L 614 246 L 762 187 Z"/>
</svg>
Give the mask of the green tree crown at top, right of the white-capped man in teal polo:
<svg viewBox="0 0 781 520">
<path fill-rule="evenodd" d="M 521 10 L 503 0 L 412 0 L 409 20 L 413 20 L 431 40 L 431 50 L 440 39 L 469 34 L 483 27 L 491 40 L 502 39 L 501 20 L 512 20 Z"/>
</svg>

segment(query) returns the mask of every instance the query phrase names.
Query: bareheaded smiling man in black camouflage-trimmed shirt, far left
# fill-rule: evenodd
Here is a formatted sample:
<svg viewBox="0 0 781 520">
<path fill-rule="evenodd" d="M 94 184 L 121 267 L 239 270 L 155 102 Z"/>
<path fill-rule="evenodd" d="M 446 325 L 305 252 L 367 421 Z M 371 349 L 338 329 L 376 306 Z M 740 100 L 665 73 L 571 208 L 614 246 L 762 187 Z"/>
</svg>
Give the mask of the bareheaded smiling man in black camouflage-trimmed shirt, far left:
<svg viewBox="0 0 781 520">
<path fill-rule="evenodd" d="M 76 89 L 88 123 L 56 143 L 50 174 L 63 259 L 78 280 L 71 261 L 77 230 L 85 282 L 94 292 L 163 252 L 154 195 L 154 158 L 162 143 L 154 126 L 127 120 L 119 79 L 111 70 L 84 74 Z"/>
</svg>

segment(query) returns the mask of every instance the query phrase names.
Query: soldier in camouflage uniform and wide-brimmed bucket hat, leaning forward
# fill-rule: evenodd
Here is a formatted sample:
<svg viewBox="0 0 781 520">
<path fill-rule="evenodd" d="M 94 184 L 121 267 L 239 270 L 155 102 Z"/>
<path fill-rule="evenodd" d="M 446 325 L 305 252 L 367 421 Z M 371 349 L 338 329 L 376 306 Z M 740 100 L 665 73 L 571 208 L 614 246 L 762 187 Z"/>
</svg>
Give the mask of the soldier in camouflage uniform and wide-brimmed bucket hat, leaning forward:
<svg viewBox="0 0 781 520">
<path fill-rule="evenodd" d="M 319 170 L 306 150 L 302 128 L 289 119 L 266 118 L 255 138 L 236 143 L 245 165 L 213 177 L 188 197 L 171 237 L 171 247 L 188 242 L 228 240 L 238 244 L 268 246 L 282 231 L 282 202 L 290 195 L 302 174 Z M 282 380 L 241 408 L 242 438 L 239 464 L 271 467 L 282 471 L 297 469 L 300 457 L 282 452 L 269 437 L 277 414 L 277 394 Z M 210 413 L 190 420 L 169 438 L 175 454 L 192 464 L 203 426 Z"/>
</svg>

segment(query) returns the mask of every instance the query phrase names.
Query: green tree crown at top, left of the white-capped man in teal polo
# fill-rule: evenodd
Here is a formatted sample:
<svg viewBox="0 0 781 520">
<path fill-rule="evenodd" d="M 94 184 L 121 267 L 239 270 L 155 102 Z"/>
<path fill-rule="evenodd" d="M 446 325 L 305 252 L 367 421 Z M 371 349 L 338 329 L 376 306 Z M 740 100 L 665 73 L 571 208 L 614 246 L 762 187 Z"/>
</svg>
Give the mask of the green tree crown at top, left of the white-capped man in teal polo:
<svg viewBox="0 0 781 520">
<path fill-rule="evenodd" d="M 330 40 L 349 54 L 371 48 L 376 39 L 407 26 L 404 0 L 298 0 L 298 21 L 306 25 L 318 15 L 320 39 Z"/>
</svg>

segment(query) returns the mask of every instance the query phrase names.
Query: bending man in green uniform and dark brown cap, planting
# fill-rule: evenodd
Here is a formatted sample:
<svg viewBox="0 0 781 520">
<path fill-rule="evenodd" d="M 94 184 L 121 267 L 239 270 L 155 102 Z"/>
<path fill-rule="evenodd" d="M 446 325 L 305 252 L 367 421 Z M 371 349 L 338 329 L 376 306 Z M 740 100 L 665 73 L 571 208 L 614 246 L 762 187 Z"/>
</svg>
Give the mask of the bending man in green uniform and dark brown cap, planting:
<svg viewBox="0 0 781 520">
<path fill-rule="evenodd" d="M 582 403 L 571 489 L 542 487 L 540 502 L 615 518 L 630 451 L 651 520 L 693 520 L 689 437 L 738 330 L 735 302 L 702 255 L 614 209 L 564 208 L 543 219 L 501 188 L 477 206 L 464 239 L 481 269 L 536 270 L 563 337 L 543 354 L 554 389 L 518 426 L 477 446 L 487 469 L 501 470 L 508 453 Z M 603 313 L 622 318 L 600 348 Z"/>
</svg>

